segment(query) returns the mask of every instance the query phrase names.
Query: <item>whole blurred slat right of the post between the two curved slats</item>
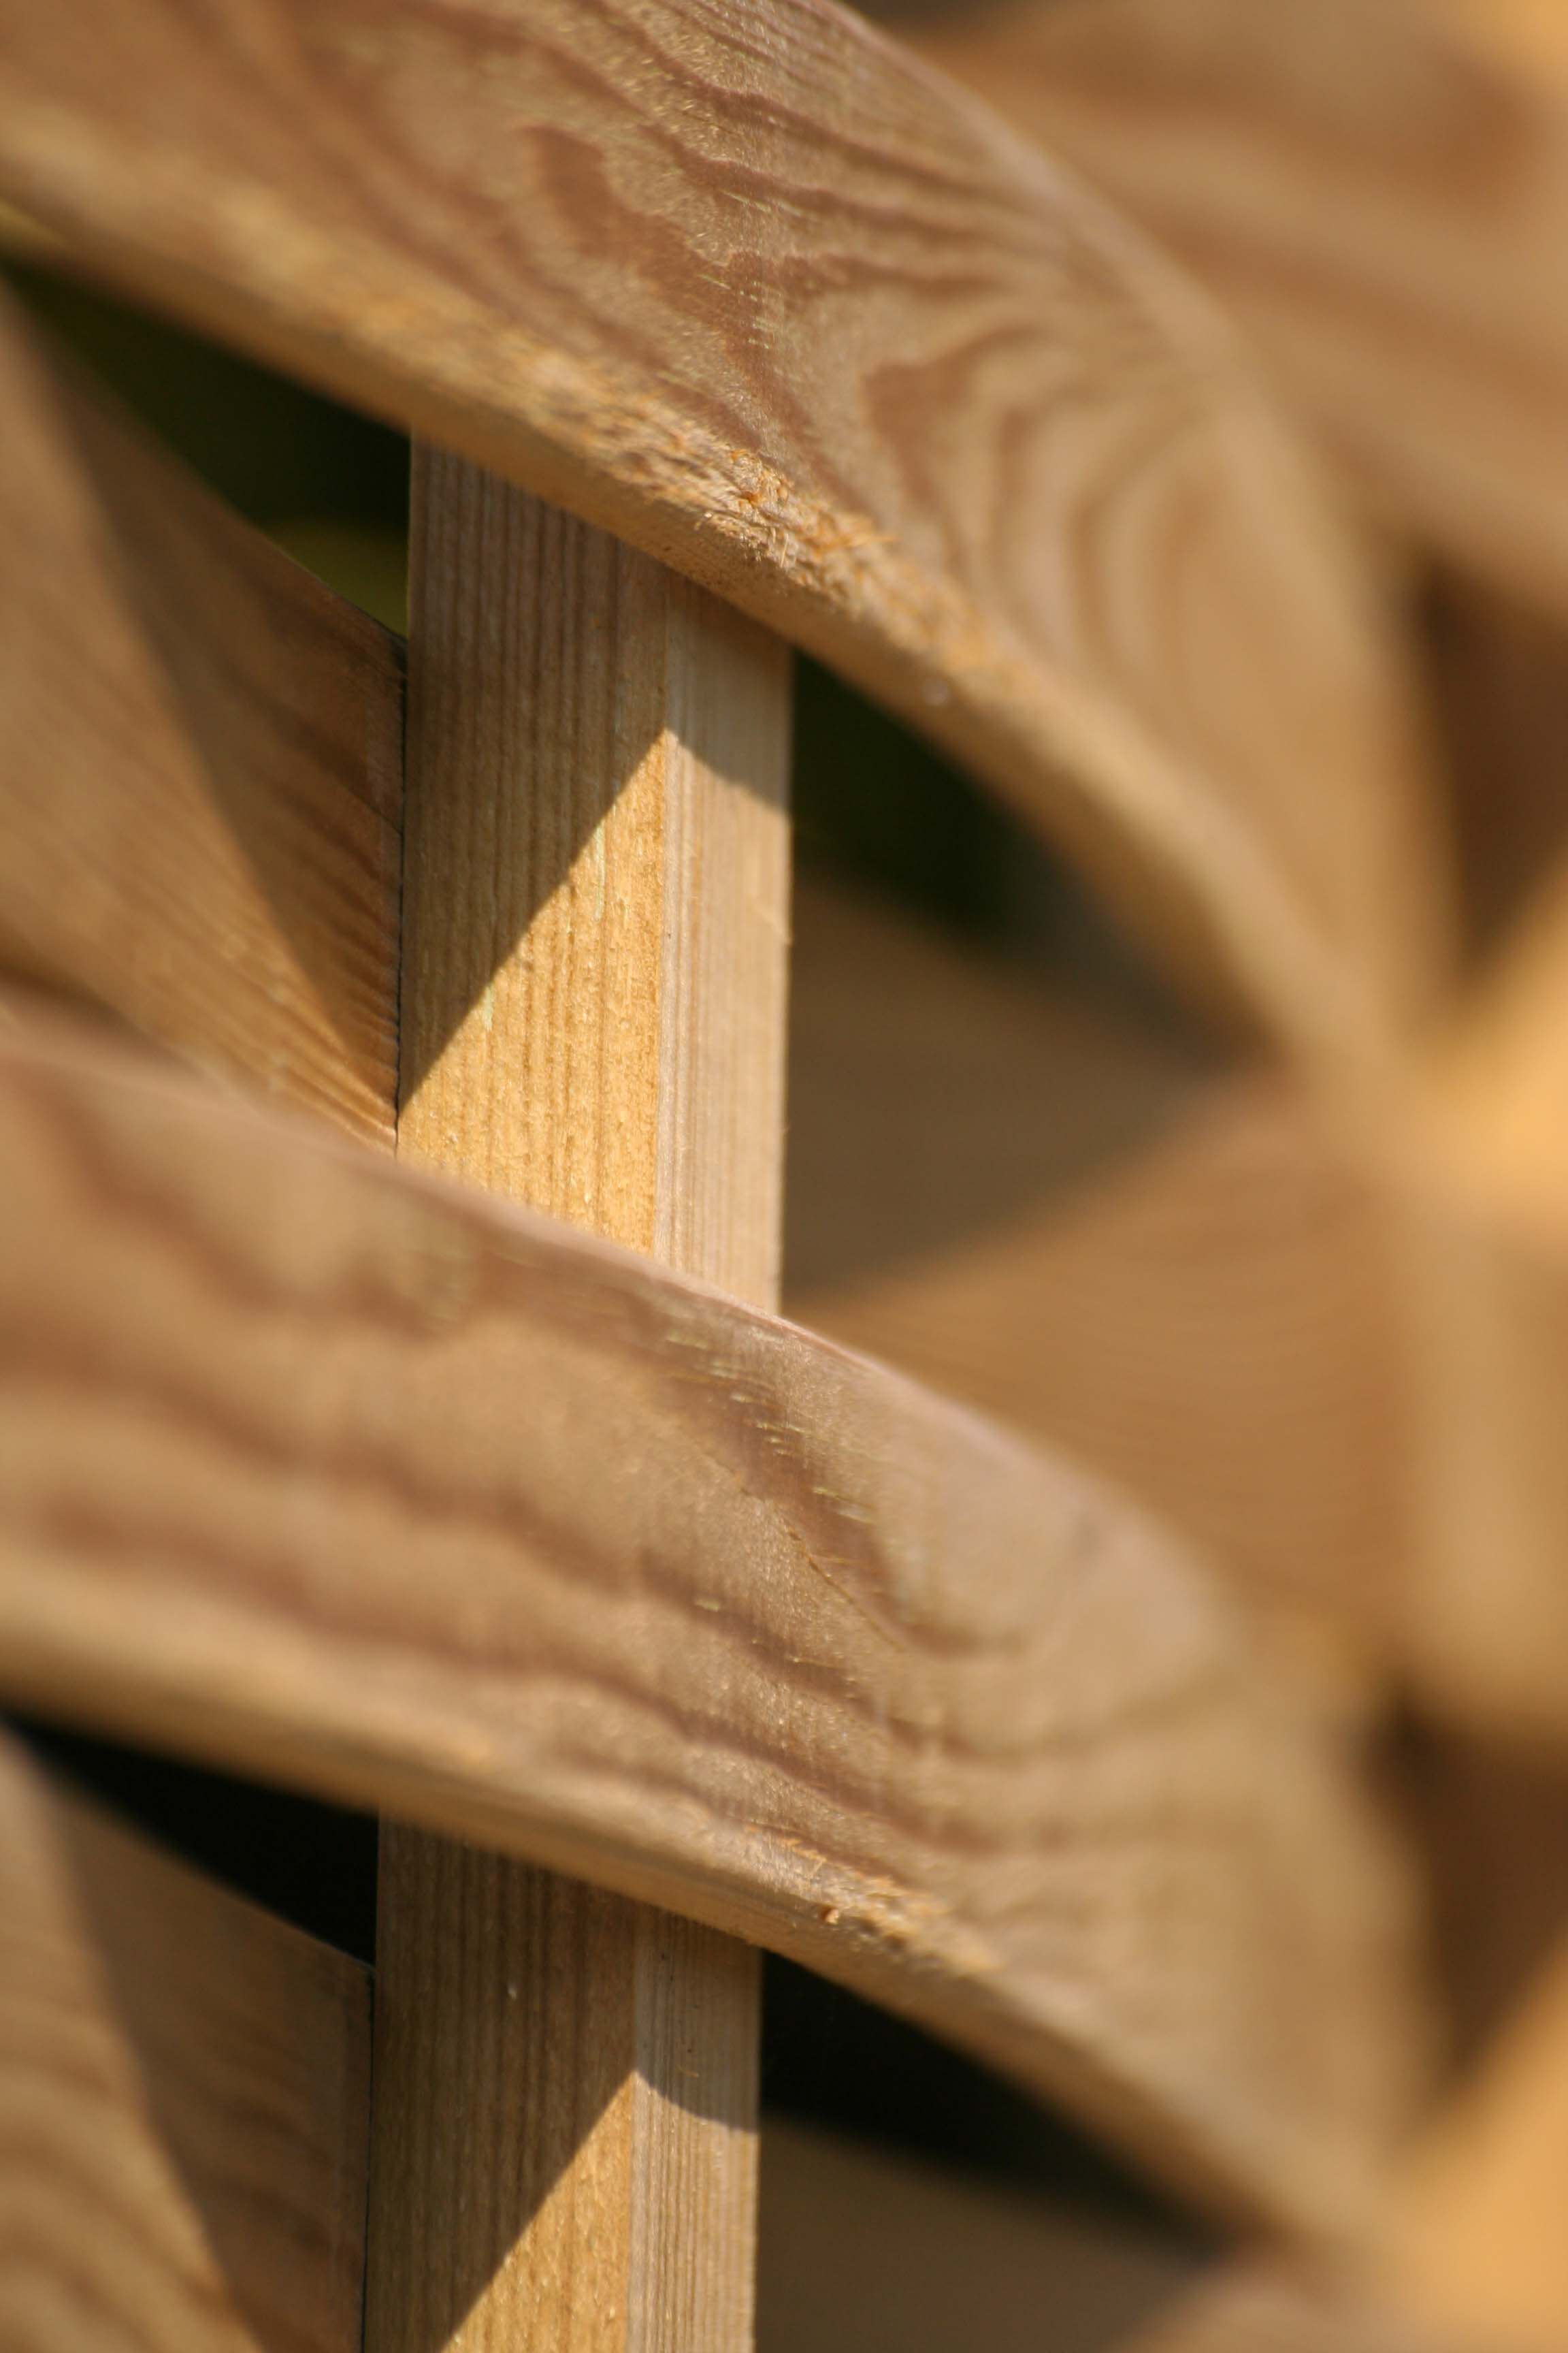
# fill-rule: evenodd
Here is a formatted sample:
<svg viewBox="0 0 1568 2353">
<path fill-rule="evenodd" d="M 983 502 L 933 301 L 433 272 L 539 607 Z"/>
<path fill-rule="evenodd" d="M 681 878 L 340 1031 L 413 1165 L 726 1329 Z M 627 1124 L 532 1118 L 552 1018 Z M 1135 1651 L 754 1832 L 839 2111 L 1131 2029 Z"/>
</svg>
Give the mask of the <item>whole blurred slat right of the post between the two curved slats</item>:
<svg viewBox="0 0 1568 2353">
<path fill-rule="evenodd" d="M 886 918 L 809 908 L 804 936 L 790 1313 L 1060 1445 L 1253 1598 L 1387 1642 L 1399 1266 L 1324 1111 Z"/>
</svg>

